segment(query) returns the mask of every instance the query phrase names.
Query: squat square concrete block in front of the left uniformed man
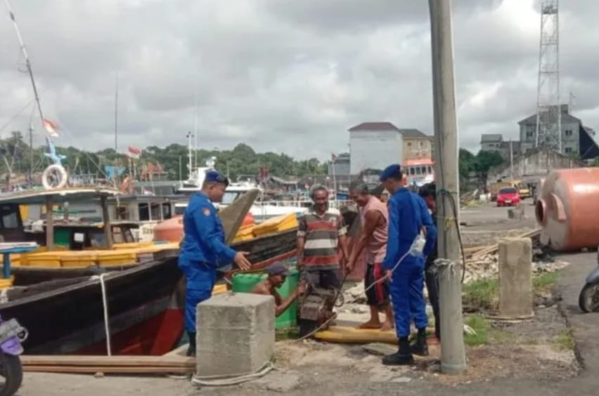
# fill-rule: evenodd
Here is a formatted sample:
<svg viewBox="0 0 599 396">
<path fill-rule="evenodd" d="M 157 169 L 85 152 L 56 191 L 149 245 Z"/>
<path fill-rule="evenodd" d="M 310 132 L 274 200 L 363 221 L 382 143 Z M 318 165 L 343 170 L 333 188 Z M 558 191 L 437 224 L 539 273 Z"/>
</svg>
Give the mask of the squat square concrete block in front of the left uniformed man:
<svg viewBox="0 0 599 396">
<path fill-rule="evenodd" d="M 272 296 L 222 293 L 198 304 L 196 375 L 240 376 L 262 369 L 275 345 Z"/>
</svg>

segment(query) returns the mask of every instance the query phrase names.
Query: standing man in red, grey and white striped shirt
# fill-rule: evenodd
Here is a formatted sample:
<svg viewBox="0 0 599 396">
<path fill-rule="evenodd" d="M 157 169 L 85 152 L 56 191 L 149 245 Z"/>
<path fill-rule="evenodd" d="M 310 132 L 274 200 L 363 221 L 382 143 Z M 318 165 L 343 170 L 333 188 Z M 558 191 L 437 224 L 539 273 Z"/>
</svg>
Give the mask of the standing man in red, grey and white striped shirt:
<svg viewBox="0 0 599 396">
<path fill-rule="evenodd" d="M 340 289 L 338 250 L 347 260 L 343 218 L 328 210 L 328 190 L 312 187 L 314 205 L 299 219 L 297 228 L 297 268 L 313 287 Z"/>
</svg>

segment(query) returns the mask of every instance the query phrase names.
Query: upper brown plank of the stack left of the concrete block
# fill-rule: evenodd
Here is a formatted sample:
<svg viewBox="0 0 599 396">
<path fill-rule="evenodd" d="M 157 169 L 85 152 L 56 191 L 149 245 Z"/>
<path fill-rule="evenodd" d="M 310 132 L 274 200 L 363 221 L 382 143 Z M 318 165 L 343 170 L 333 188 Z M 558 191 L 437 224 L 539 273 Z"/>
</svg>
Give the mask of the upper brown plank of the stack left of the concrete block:
<svg viewBox="0 0 599 396">
<path fill-rule="evenodd" d="M 195 358 L 185 356 L 21 355 L 21 362 L 24 366 L 195 367 Z"/>
</svg>

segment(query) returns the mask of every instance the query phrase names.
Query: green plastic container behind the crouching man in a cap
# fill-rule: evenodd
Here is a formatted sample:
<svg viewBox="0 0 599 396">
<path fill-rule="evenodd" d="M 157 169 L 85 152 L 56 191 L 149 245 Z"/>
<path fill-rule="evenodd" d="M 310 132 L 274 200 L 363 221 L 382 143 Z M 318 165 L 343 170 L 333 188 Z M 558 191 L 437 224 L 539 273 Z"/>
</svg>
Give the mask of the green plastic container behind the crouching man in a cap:
<svg viewBox="0 0 599 396">
<path fill-rule="evenodd" d="M 281 295 L 281 298 L 288 298 L 288 296 L 297 289 L 299 283 L 299 272 L 295 268 L 290 268 L 290 275 L 285 279 L 285 283 L 281 285 L 276 291 Z M 255 274 L 236 274 L 233 275 L 233 286 L 232 291 L 237 293 L 249 293 L 254 286 L 259 282 L 266 279 L 265 273 Z M 289 308 L 285 310 L 275 320 L 275 329 L 287 329 L 288 327 L 297 325 L 297 300 L 293 301 Z"/>
</svg>

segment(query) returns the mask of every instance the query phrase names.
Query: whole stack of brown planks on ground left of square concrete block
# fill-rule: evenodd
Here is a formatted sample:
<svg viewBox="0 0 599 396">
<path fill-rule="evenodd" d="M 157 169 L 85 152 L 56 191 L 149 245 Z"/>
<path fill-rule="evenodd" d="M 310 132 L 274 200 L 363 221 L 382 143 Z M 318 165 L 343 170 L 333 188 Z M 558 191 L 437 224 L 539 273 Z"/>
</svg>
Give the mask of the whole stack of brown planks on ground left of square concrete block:
<svg viewBox="0 0 599 396">
<path fill-rule="evenodd" d="M 191 374 L 194 357 L 22 355 L 23 371 L 45 373 Z"/>
</svg>

